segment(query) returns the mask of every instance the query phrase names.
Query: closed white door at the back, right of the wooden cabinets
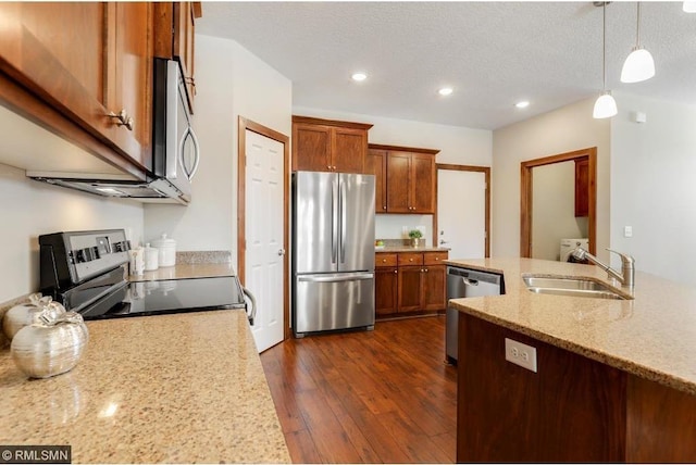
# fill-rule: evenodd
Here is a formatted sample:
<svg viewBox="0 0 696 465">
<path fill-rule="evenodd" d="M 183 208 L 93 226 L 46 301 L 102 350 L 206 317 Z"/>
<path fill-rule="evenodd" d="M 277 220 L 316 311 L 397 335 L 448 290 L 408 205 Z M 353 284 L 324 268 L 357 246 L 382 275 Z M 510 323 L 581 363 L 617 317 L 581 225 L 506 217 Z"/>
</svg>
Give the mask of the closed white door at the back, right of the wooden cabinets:
<svg viewBox="0 0 696 465">
<path fill-rule="evenodd" d="M 437 243 L 450 249 L 450 260 L 485 256 L 485 173 L 437 171 Z"/>
</svg>

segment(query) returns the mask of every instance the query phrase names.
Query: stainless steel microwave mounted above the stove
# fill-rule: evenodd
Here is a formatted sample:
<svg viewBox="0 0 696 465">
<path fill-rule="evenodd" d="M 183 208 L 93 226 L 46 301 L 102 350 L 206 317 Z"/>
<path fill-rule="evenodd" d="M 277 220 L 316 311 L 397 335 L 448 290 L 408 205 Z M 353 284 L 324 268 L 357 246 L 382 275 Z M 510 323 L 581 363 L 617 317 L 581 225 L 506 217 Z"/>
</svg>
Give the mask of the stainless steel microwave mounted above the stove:
<svg viewBox="0 0 696 465">
<path fill-rule="evenodd" d="M 179 63 L 154 59 L 152 98 L 152 173 L 147 180 L 96 177 L 84 173 L 27 172 L 57 186 L 104 197 L 149 203 L 188 204 L 200 149 L 191 125 L 186 84 Z M 98 176 L 98 175 L 97 175 Z"/>
</svg>

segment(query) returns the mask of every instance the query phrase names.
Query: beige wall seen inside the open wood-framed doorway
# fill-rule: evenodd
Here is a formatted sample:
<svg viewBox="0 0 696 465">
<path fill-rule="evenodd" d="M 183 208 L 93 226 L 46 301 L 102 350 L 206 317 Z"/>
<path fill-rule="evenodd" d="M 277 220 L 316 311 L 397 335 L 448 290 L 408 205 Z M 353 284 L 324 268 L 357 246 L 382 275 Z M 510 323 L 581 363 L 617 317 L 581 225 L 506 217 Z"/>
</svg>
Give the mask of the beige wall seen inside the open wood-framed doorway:
<svg viewBox="0 0 696 465">
<path fill-rule="evenodd" d="M 560 240 L 587 237 L 587 218 L 575 217 L 575 163 L 532 168 L 532 256 L 558 260 Z"/>
</svg>

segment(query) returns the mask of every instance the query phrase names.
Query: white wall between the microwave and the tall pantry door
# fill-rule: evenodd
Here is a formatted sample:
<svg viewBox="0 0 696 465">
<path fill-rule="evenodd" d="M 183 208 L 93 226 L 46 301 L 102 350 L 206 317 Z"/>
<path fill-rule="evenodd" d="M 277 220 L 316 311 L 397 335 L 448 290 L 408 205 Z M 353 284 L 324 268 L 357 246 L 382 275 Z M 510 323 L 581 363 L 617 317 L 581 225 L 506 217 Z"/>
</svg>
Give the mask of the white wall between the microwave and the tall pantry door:
<svg viewBox="0 0 696 465">
<path fill-rule="evenodd" d="M 231 250 L 237 261 L 237 117 L 291 133 L 291 83 L 237 42 L 196 36 L 194 125 L 201 150 L 191 203 L 148 205 L 145 232 L 177 250 Z"/>
</svg>

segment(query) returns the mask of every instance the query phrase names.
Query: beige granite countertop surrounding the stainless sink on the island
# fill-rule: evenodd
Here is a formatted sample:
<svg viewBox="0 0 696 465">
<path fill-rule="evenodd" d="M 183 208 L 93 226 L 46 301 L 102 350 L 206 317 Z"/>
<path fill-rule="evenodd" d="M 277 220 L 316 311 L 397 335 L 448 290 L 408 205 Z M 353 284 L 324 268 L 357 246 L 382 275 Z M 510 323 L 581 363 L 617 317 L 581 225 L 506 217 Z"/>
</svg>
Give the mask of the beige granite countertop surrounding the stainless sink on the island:
<svg viewBox="0 0 696 465">
<path fill-rule="evenodd" d="M 450 305 L 459 311 L 696 394 L 695 288 L 636 272 L 633 300 L 537 294 L 526 289 L 522 274 L 587 276 L 620 285 L 592 265 L 533 259 L 445 263 L 505 276 L 505 296 L 452 299 Z"/>
</svg>

